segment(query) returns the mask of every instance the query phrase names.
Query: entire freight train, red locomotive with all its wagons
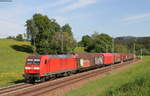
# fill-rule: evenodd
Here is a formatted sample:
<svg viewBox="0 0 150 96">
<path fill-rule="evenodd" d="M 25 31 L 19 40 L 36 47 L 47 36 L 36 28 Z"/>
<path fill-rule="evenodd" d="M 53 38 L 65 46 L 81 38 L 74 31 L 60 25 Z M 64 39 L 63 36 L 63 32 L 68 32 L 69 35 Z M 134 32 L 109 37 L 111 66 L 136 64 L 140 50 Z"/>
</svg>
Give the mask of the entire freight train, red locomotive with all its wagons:
<svg viewBox="0 0 150 96">
<path fill-rule="evenodd" d="M 26 82 L 42 82 L 134 59 L 134 54 L 78 53 L 69 55 L 32 55 L 26 58 Z"/>
</svg>

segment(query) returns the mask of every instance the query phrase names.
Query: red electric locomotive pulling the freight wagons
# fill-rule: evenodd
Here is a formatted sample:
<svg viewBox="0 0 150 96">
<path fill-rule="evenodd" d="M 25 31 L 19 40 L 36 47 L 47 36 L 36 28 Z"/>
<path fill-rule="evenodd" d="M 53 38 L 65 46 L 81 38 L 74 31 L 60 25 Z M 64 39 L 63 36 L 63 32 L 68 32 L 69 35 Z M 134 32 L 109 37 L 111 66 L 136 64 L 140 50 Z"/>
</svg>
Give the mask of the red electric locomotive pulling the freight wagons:
<svg viewBox="0 0 150 96">
<path fill-rule="evenodd" d="M 27 82 L 38 82 L 76 69 L 74 55 L 34 55 L 26 59 L 24 77 Z"/>
</svg>

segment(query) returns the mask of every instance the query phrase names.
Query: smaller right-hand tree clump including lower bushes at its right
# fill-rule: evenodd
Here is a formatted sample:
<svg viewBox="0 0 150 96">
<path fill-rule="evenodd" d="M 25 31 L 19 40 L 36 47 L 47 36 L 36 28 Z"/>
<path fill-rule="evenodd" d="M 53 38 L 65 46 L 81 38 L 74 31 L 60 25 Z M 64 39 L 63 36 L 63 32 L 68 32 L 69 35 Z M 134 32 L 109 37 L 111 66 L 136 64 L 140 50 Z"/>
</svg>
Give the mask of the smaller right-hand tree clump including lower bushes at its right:
<svg viewBox="0 0 150 96">
<path fill-rule="evenodd" d="M 99 34 L 95 32 L 91 36 L 85 35 L 82 37 L 79 44 L 80 46 L 83 46 L 87 52 L 128 53 L 128 48 L 126 45 L 116 43 L 115 38 L 112 38 L 104 33 Z"/>
</svg>

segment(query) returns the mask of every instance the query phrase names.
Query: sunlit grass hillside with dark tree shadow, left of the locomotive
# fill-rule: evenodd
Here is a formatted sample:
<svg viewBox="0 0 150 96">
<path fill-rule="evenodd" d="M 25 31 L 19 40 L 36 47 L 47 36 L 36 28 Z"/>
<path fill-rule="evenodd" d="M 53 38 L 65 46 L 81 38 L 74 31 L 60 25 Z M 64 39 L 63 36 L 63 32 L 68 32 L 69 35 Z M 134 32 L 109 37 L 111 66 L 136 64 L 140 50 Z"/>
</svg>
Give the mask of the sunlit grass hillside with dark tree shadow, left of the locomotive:
<svg viewBox="0 0 150 96">
<path fill-rule="evenodd" d="M 29 42 L 0 39 L 0 87 L 20 82 L 25 57 L 31 53 Z"/>
</svg>

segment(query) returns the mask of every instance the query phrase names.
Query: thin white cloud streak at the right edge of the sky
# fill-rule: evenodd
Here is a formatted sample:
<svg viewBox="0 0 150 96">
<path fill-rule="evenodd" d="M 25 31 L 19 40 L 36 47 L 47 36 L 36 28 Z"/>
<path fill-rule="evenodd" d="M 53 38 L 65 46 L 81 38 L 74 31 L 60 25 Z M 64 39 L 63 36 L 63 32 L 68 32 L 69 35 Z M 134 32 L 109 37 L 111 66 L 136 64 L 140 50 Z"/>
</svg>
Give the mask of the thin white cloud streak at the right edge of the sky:
<svg viewBox="0 0 150 96">
<path fill-rule="evenodd" d="M 127 21 L 127 22 L 129 22 L 129 21 L 139 21 L 139 20 L 145 20 L 147 18 L 150 18 L 150 13 L 131 15 L 131 16 L 123 18 L 123 21 Z"/>
</svg>

